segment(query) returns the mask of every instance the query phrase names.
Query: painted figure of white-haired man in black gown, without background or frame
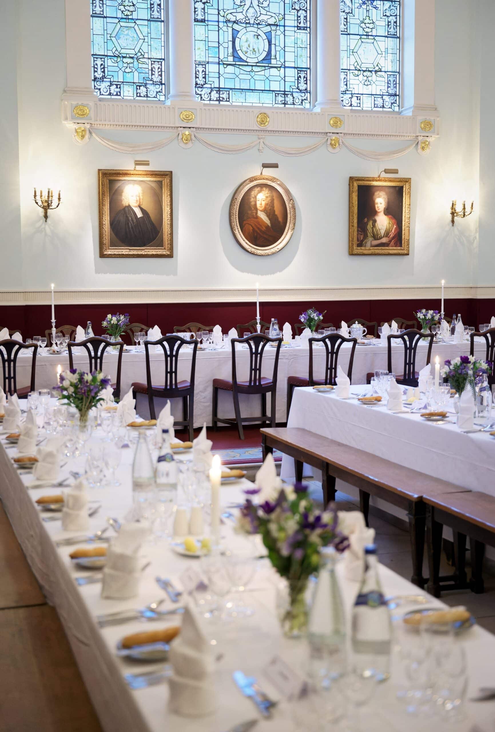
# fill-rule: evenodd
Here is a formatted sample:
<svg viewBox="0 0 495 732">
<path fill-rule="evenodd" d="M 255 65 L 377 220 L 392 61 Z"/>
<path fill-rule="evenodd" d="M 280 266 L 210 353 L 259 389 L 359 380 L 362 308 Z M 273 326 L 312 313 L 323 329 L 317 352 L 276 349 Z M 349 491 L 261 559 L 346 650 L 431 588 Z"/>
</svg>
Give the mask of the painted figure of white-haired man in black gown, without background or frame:
<svg viewBox="0 0 495 732">
<path fill-rule="evenodd" d="M 127 247 L 146 247 L 157 238 L 159 231 L 143 206 L 143 189 L 127 184 L 122 193 L 122 209 L 111 221 L 111 230 Z"/>
</svg>

